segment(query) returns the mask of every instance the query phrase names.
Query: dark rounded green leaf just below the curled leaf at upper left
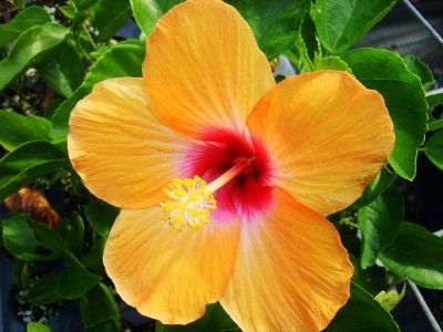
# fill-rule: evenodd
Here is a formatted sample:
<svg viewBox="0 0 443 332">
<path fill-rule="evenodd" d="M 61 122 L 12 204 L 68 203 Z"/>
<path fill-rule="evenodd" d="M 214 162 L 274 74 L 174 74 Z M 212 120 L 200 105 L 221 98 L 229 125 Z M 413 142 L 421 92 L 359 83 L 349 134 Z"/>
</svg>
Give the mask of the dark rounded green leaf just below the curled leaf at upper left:
<svg viewBox="0 0 443 332">
<path fill-rule="evenodd" d="M 48 60 L 42 62 L 38 69 L 44 82 L 65 97 L 69 97 L 84 79 L 82 59 L 66 42 L 54 48 L 49 53 Z"/>
</svg>

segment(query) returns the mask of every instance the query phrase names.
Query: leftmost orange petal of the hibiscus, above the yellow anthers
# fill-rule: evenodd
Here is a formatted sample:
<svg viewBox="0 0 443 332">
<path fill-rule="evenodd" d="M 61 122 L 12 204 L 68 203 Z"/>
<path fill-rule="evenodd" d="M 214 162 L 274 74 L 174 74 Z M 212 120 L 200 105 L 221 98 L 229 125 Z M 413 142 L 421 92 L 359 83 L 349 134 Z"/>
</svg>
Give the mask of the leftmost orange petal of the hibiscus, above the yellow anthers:
<svg viewBox="0 0 443 332">
<path fill-rule="evenodd" d="M 153 114 L 143 79 L 103 81 L 71 114 L 74 169 L 92 194 L 120 207 L 158 204 L 184 145 Z"/>
</svg>

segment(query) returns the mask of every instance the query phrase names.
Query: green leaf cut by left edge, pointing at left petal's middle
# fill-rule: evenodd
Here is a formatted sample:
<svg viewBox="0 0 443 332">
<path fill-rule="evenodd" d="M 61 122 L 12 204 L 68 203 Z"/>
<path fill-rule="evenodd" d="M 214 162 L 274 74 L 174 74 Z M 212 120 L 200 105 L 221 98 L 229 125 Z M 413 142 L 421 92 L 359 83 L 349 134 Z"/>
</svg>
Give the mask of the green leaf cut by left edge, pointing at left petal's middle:
<svg viewBox="0 0 443 332">
<path fill-rule="evenodd" d="M 50 141 L 51 122 L 41 116 L 0 111 L 0 145 L 12 151 L 31 141 Z"/>
</svg>

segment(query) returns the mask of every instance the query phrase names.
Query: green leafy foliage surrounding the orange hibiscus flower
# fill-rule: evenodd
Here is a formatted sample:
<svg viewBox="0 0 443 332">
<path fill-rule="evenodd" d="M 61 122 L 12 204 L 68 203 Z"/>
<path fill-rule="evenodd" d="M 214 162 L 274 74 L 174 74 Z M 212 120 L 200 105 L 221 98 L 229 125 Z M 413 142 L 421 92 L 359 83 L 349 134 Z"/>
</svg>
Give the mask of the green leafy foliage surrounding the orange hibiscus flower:
<svg viewBox="0 0 443 332">
<path fill-rule="evenodd" d="M 93 197 L 73 172 L 66 156 L 68 121 L 95 83 L 142 75 L 144 40 L 156 20 L 181 1 L 69 0 L 50 7 L 43 2 L 0 2 L 0 199 L 31 186 L 58 197 L 60 221 L 55 227 L 30 209 L 8 205 L 18 212 L 2 219 L 1 245 L 14 260 L 14 301 L 32 312 L 47 309 L 21 317 L 35 321 L 28 331 L 50 331 L 41 322 L 68 302 L 80 309 L 86 331 L 119 331 L 122 304 L 102 264 L 103 246 L 119 210 Z M 398 331 L 389 311 L 402 299 L 406 279 L 443 289 L 443 239 L 414 220 L 403 220 L 404 199 L 398 189 L 398 184 L 414 179 L 421 153 L 443 170 L 443 118 L 433 111 L 443 94 L 426 96 L 434 79 L 419 59 L 353 46 L 396 1 L 227 2 L 248 21 L 270 61 L 284 54 L 298 72 L 348 71 L 383 95 L 394 123 L 395 147 L 362 197 L 330 216 L 356 273 L 351 299 L 327 331 Z M 140 27 L 140 38 L 116 34 L 130 18 Z M 209 305 L 205 317 L 188 326 L 155 328 L 236 329 L 219 304 Z"/>
</svg>

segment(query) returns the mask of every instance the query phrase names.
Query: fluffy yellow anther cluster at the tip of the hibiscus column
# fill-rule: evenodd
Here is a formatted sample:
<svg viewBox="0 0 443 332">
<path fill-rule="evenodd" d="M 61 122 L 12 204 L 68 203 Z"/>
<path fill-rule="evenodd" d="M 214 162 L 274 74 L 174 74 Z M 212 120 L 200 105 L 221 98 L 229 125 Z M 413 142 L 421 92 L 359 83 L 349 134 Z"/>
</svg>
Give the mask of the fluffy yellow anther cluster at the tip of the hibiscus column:
<svg viewBox="0 0 443 332">
<path fill-rule="evenodd" d="M 171 227 L 182 230 L 185 227 L 200 229 L 210 221 L 210 210 L 217 201 L 206 181 L 198 176 L 194 178 L 174 178 L 163 191 L 168 200 L 161 204 L 164 218 Z"/>
</svg>

